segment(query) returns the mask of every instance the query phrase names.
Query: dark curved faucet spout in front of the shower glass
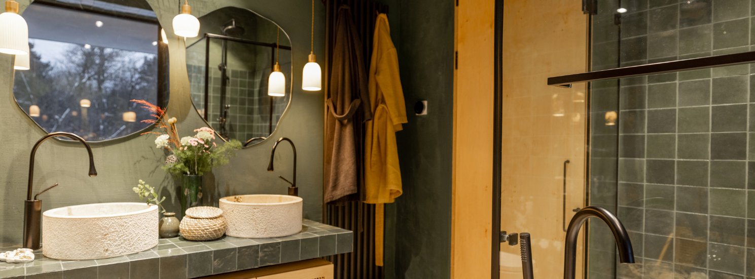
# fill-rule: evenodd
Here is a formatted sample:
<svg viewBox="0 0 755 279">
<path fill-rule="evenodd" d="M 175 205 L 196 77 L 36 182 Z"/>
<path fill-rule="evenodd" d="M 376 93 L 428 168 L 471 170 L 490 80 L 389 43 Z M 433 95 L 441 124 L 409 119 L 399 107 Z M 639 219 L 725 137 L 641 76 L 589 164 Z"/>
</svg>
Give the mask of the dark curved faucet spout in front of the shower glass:
<svg viewBox="0 0 755 279">
<path fill-rule="evenodd" d="M 566 230 L 566 255 L 564 259 L 564 279 L 575 279 L 575 265 L 577 265 L 577 238 L 579 229 L 590 217 L 597 217 L 606 225 L 609 225 L 618 247 L 618 256 L 621 263 L 634 263 L 632 242 L 627 234 L 627 229 L 621 221 L 609 210 L 603 207 L 584 207 L 579 210 L 569 222 Z"/>
</svg>

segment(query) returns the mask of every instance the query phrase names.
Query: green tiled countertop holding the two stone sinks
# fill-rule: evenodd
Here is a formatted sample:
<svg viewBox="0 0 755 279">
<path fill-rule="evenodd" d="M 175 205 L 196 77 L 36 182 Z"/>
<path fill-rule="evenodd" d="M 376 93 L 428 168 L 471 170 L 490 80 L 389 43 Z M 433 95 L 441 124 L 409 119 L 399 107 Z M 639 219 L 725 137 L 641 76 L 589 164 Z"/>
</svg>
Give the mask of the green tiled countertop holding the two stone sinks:
<svg viewBox="0 0 755 279">
<path fill-rule="evenodd" d="M 151 250 L 110 259 L 60 261 L 35 251 L 34 262 L 0 262 L 0 278 L 186 279 L 349 253 L 352 249 L 352 231 L 304 220 L 300 233 L 284 238 L 161 238 Z"/>
</svg>

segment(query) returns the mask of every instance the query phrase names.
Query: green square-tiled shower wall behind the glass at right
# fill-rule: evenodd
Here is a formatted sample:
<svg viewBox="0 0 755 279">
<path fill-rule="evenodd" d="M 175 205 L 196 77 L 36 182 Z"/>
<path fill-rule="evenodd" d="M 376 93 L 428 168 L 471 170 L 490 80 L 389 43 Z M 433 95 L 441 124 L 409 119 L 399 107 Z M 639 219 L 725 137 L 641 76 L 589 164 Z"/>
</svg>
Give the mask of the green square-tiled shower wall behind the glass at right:
<svg viewBox="0 0 755 279">
<path fill-rule="evenodd" d="M 753 8 L 601 1 L 592 70 L 750 51 Z M 590 203 L 617 210 L 637 263 L 612 269 L 610 231 L 593 222 L 591 278 L 755 277 L 753 74 L 741 65 L 593 82 Z"/>
</svg>

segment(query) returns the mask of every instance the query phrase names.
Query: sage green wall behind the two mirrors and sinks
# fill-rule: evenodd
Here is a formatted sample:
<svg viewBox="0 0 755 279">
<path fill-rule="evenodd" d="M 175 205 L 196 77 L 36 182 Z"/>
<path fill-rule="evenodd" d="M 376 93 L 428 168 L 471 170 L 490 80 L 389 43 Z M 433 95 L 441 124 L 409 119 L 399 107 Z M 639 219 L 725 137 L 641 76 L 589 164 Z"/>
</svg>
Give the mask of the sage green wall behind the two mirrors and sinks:
<svg viewBox="0 0 755 279">
<path fill-rule="evenodd" d="M 19 1 L 23 8 L 28 0 Z M 189 96 L 186 74 L 186 53 L 183 39 L 173 35 L 172 19 L 180 11 L 174 0 L 148 0 L 159 17 L 170 41 L 171 97 L 168 115 L 178 118 L 182 135 L 205 126 Z M 217 205 L 217 199 L 240 194 L 285 194 L 287 184 L 277 176 L 291 177 L 292 153 L 286 144 L 276 152 L 276 171 L 267 172 L 272 139 L 291 138 L 297 145 L 297 182 L 304 198 L 304 217 L 322 219 L 322 93 L 301 90 L 300 72 L 307 63 L 310 51 L 310 2 L 295 0 L 245 1 L 217 0 L 190 2 L 193 15 L 201 17 L 217 8 L 236 6 L 248 8 L 278 23 L 288 35 L 293 48 L 294 76 L 286 77 L 294 88 L 291 103 L 282 116 L 277 130 L 269 140 L 243 149 L 231 163 L 205 176 L 204 200 Z M 315 5 L 315 53 L 325 57 L 322 48 L 324 8 Z M 23 14 L 22 14 L 23 15 Z M 321 63 L 322 63 L 322 58 Z M 16 106 L 13 100 L 12 57 L 0 55 L 0 130 L 5 130 L 0 159 L 0 245 L 20 245 L 23 235 L 23 200 L 26 199 L 26 179 L 29 153 L 45 132 Z M 139 201 L 131 188 L 138 179 L 159 185 L 162 195 L 168 196 L 168 210 L 180 211 L 177 181 L 159 167 L 164 161 L 163 151 L 154 146 L 153 136 L 131 135 L 107 143 L 92 144 L 99 175 L 88 177 L 88 160 L 79 143 L 48 140 L 38 150 L 35 161 L 34 189 L 39 192 L 54 183 L 56 189 L 40 196 L 42 210 L 75 204 L 116 201 Z"/>
</svg>

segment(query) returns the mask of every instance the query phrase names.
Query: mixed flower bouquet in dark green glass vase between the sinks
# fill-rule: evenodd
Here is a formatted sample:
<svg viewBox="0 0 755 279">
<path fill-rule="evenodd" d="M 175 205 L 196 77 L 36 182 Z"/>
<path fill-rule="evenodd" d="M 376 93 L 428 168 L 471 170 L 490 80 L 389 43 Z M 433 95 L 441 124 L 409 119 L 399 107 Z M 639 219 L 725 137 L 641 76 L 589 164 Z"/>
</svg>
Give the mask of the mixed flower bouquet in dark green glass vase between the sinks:
<svg viewBox="0 0 755 279">
<path fill-rule="evenodd" d="M 152 112 L 155 119 L 143 120 L 144 123 L 154 123 L 162 132 L 149 131 L 156 134 L 155 145 L 159 149 L 168 150 L 168 158 L 162 170 L 181 177 L 181 208 L 199 205 L 202 198 L 202 175 L 212 170 L 212 167 L 228 164 L 228 159 L 235 156 L 234 150 L 241 149 L 241 143 L 230 139 L 227 143 L 217 146 L 212 141 L 215 131 L 209 127 L 194 130 L 193 136 L 178 136 L 176 118 L 168 118 L 165 109 L 155 106 L 145 100 L 131 100 L 139 103 L 144 109 Z M 142 133 L 142 134 L 146 134 Z"/>
</svg>

